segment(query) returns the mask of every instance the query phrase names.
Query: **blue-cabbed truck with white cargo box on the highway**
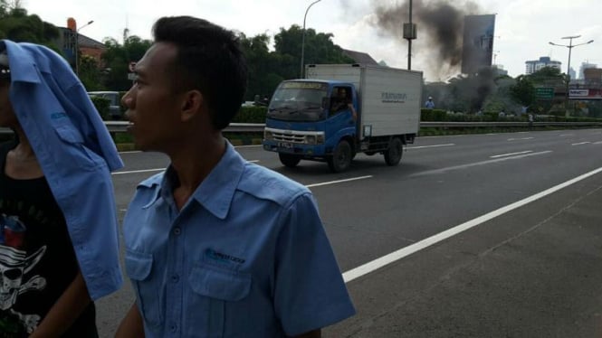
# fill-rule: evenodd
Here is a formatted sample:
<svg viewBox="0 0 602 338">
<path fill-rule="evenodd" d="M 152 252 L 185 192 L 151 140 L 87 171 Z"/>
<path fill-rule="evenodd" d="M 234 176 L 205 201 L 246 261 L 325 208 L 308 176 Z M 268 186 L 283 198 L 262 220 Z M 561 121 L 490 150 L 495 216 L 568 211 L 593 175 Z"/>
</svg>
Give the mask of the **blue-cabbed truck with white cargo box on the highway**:
<svg viewBox="0 0 602 338">
<path fill-rule="evenodd" d="M 358 64 L 316 64 L 284 80 L 267 111 L 263 148 L 282 164 L 327 162 L 346 170 L 357 153 L 397 165 L 420 127 L 422 72 Z"/>
</svg>

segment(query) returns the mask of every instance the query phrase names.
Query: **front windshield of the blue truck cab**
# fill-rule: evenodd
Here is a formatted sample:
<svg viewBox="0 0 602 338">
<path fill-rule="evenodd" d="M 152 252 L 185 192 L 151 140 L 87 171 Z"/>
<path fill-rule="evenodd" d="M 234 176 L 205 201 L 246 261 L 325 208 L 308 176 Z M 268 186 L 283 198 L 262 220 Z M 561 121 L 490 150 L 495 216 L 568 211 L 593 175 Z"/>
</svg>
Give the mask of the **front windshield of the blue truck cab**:
<svg viewBox="0 0 602 338">
<path fill-rule="evenodd" d="M 283 82 L 273 94 L 267 117 L 284 121 L 319 121 L 326 118 L 322 99 L 328 86 L 320 82 Z"/>
</svg>

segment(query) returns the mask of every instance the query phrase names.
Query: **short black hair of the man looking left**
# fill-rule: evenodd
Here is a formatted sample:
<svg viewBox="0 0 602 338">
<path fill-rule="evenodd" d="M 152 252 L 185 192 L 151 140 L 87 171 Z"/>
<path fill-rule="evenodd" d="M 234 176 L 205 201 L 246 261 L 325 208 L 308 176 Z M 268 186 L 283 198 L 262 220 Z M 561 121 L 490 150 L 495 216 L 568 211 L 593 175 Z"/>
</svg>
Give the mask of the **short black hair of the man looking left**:
<svg viewBox="0 0 602 338">
<path fill-rule="evenodd" d="M 233 32 L 192 16 L 167 16 L 153 25 L 155 42 L 177 45 L 179 89 L 203 94 L 216 129 L 228 127 L 243 102 L 247 66 Z"/>
</svg>

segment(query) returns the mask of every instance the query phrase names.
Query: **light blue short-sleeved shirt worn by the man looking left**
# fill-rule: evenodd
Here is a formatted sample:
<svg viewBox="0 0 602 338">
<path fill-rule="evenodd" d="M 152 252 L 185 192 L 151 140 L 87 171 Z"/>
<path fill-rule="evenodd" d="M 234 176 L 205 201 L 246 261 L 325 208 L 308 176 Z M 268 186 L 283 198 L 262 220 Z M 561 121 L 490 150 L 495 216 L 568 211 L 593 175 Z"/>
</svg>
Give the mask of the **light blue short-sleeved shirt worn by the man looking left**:
<svg viewBox="0 0 602 338">
<path fill-rule="evenodd" d="M 229 144 L 179 212 L 176 179 L 140 183 L 124 220 L 147 337 L 284 337 L 354 315 L 307 188 Z"/>
</svg>

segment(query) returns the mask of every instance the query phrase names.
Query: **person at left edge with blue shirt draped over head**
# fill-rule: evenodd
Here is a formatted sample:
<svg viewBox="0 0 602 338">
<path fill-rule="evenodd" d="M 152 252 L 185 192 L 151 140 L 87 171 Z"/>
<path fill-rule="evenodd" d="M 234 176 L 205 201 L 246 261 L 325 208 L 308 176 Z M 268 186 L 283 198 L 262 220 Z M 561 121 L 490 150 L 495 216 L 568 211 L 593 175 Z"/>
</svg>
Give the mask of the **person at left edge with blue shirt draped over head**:
<svg viewBox="0 0 602 338">
<path fill-rule="evenodd" d="M 123 166 L 56 52 L 0 41 L 0 335 L 98 337 L 94 301 L 119 289 L 110 171 Z"/>
</svg>

